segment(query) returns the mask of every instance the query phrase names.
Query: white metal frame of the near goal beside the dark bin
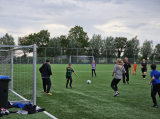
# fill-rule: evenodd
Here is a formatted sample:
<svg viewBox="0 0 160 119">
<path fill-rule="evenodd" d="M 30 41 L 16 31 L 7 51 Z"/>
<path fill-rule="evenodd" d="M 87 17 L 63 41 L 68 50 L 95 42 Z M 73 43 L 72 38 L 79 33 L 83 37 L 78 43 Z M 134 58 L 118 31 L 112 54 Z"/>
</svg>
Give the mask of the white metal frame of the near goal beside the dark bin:
<svg viewBox="0 0 160 119">
<path fill-rule="evenodd" d="M 17 103 L 17 102 L 30 102 L 34 105 L 36 105 L 36 52 L 37 52 L 37 48 L 36 48 L 36 44 L 34 45 L 30 45 L 30 46 L 13 46 L 13 45 L 0 45 L 0 52 L 8 52 L 10 58 L 8 59 L 9 61 L 9 65 L 10 65 L 10 79 L 11 79 L 11 86 L 8 89 L 9 91 L 11 91 L 13 94 L 15 94 L 16 96 L 18 96 L 20 99 L 22 100 L 9 100 L 12 103 Z M 3 50 L 3 48 L 9 48 L 8 50 Z M 18 94 L 16 91 L 14 91 L 14 51 L 15 50 L 21 50 L 23 48 L 30 48 L 33 49 L 33 77 L 32 77 L 32 99 L 26 99 L 25 97 L 23 97 L 22 95 Z M 1 64 L 0 64 L 1 65 Z"/>
</svg>

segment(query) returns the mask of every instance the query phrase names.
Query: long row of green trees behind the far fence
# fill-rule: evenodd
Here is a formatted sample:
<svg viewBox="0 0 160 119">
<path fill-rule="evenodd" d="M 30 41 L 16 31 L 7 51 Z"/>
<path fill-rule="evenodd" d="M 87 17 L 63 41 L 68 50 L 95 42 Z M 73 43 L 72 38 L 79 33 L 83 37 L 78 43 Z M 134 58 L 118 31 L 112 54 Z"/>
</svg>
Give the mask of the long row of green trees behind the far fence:
<svg viewBox="0 0 160 119">
<path fill-rule="evenodd" d="M 78 49 L 79 55 L 94 55 L 94 57 L 120 58 L 126 56 L 141 59 L 160 60 L 160 44 L 153 47 L 152 40 L 145 40 L 140 47 L 137 36 L 128 40 L 126 37 L 106 37 L 102 38 L 100 34 L 94 34 L 89 39 L 87 32 L 81 26 L 75 26 L 69 30 L 68 35 L 50 38 L 48 30 L 41 30 L 38 33 L 18 37 L 18 45 L 37 45 L 37 56 L 44 57 L 44 48 L 47 48 L 47 56 L 55 57 L 61 55 L 76 55 Z M 0 45 L 15 45 L 14 38 L 6 33 L 0 38 Z M 48 48 L 50 47 L 50 48 Z M 75 49 L 71 49 L 75 48 Z M 25 56 L 25 51 L 24 51 Z"/>
</svg>

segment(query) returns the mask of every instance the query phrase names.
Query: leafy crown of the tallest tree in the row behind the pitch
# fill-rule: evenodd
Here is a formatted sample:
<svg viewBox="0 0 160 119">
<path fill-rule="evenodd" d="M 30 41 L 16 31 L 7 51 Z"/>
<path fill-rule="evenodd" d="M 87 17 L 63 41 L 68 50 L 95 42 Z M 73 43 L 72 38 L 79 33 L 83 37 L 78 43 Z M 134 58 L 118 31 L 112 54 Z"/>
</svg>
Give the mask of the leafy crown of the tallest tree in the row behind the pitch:
<svg viewBox="0 0 160 119">
<path fill-rule="evenodd" d="M 88 47 L 89 37 L 86 32 L 83 31 L 83 27 L 75 26 L 71 28 L 68 34 L 68 40 L 74 38 L 77 42 L 82 44 L 82 48 Z"/>
</svg>

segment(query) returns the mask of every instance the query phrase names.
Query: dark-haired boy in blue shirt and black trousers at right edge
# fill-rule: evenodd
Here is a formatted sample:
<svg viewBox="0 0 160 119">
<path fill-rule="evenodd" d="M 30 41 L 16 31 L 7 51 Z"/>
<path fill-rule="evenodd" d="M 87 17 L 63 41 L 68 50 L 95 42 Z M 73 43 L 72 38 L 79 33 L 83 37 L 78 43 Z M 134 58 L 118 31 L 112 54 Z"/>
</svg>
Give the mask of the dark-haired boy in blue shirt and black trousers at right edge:
<svg viewBox="0 0 160 119">
<path fill-rule="evenodd" d="M 149 82 L 149 85 L 152 83 L 151 87 L 151 97 L 153 100 L 154 105 L 152 107 L 158 107 L 157 101 L 156 101 L 156 94 L 158 92 L 160 97 L 160 72 L 156 70 L 156 64 L 151 65 L 151 81 Z"/>
</svg>

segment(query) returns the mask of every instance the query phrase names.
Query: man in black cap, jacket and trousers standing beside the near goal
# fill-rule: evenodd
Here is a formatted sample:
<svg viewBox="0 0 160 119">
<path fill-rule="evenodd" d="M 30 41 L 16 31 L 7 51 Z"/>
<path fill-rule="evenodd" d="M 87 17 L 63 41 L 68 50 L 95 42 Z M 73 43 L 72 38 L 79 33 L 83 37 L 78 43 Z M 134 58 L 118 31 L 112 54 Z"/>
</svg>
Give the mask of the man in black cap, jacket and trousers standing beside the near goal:
<svg viewBox="0 0 160 119">
<path fill-rule="evenodd" d="M 44 63 L 41 66 L 41 68 L 39 69 L 39 71 L 41 73 L 41 77 L 42 77 L 42 81 L 43 81 L 44 93 L 46 93 L 48 95 L 52 95 L 50 93 L 50 89 L 51 89 L 50 75 L 52 75 L 50 61 L 46 60 L 46 63 Z M 46 90 L 46 86 L 47 86 L 47 90 Z"/>
</svg>

